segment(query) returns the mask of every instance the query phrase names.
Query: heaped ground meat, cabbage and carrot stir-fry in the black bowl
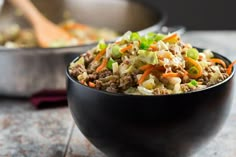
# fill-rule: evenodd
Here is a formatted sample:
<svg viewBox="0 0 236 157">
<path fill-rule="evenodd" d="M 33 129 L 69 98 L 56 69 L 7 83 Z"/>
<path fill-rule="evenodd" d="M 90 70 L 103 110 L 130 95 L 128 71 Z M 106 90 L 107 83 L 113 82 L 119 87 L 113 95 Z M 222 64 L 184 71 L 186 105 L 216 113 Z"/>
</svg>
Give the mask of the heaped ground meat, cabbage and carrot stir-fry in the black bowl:
<svg viewBox="0 0 236 157">
<path fill-rule="evenodd" d="M 225 80 L 233 62 L 199 52 L 178 34 L 127 32 L 112 44 L 100 41 L 69 66 L 81 84 L 113 93 L 166 95 L 204 89 Z"/>
</svg>

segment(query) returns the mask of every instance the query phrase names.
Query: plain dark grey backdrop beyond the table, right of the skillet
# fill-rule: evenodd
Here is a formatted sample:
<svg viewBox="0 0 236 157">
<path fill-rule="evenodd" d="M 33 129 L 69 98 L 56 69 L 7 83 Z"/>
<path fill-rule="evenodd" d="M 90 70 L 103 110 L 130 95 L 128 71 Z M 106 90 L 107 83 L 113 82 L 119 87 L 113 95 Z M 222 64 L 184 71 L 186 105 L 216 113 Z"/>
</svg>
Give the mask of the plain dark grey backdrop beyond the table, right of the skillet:
<svg viewBox="0 0 236 157">
<path fill-rule="evenodd" d="M 235 0 L 138 0 L 168 14 L 167 25 L 188 30 L 234 30 Z"/>
</svg>

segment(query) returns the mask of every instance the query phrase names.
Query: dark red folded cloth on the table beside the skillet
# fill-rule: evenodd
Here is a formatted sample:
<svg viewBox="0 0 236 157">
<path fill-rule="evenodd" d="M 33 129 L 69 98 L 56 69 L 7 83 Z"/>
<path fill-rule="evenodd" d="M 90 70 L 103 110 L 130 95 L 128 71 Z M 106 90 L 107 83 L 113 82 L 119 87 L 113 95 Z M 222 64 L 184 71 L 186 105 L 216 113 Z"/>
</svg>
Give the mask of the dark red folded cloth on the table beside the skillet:
<svg viewBox="0 0 236 157">
<path fill-rule="evenodd" d="M 30 102 L 36 108 L 66 106 L 66 90 L 42 90 L 33 94 L 30 98 Z"/>
</svg>

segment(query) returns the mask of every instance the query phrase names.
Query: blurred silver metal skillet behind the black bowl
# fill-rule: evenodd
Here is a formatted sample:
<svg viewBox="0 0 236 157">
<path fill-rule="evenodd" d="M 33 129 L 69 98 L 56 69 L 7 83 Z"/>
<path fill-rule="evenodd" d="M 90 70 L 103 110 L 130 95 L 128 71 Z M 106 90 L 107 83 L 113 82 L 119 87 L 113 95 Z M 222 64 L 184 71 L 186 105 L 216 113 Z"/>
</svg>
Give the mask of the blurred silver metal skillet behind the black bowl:
<svg viewBox="0 0 236 157">
<path fill-rule="evenodd" d="M 70 12 L 76 21 L 94 27 L 107 27 L 119 33 L 158 31 L 166 17 L 158 8 L 132 0 L 32 0 L 55 23 Z M 29 24 L 15 9 L 5 4 L 0 14 L 0 30 L 13 23 L 23 28 Z M 84 53 L 96 43 L 64 48 L 0 47 L 0 96 L 23 96 L 43 89 L 65 89 L 65 65 L 69 58 Z"/>
</svg>

